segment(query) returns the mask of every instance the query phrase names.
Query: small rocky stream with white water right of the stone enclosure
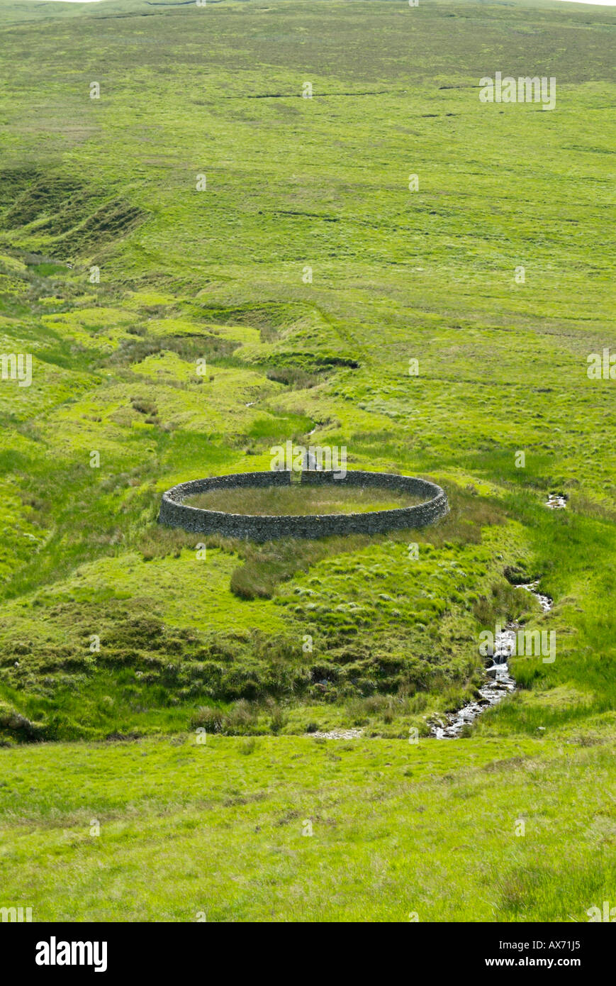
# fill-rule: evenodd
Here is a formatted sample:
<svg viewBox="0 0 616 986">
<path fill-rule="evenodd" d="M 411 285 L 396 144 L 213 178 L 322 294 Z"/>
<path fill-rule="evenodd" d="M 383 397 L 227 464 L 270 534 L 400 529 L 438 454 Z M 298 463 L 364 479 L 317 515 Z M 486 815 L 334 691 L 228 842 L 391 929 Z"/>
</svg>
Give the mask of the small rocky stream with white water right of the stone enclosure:
<svg viewBox="0 0 616 986">
<path fill-rule="evenodd" d="M 550 510 L 562 510 L 567 505 L 567 500 L 559 493 L 550 493 L 545 504 Z M 520 585 L 518 589 L 525 589 L 527 593 L 537 599 L 544 613 L 552 608 L 553 600 L 549 596 L 544 596 L 537 592 L 539 580 Z M 515 690 L 515 681 L 509 670 L 509 659 L 515 650 L 515 633 L 518 624 L 515 622 L 506 623 L 504 629 L 495 635 L 494 653 L 492 655 L 492 665 L 486 669 L 486 682 L 479 688 L 479 698 L 463 705 L 457 712 L 446 713 L 445 719 L 436 722 L 432 729 L 432 736 L 437 740 L 455 740 L 461 734 L 465 726 L 469 726 L 486 709 L 491 709 L 493 705 L 502 702 L 506 695 Z"/>
</svg>

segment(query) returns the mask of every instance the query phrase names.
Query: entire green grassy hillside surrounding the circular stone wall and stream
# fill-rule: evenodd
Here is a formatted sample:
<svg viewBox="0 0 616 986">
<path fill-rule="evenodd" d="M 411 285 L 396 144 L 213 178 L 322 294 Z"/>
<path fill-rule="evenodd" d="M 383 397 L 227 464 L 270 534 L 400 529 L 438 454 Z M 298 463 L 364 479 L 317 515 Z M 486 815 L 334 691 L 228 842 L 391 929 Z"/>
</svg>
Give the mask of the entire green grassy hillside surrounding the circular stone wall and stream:
<svg viewBox="0 0 616 986">
<path fill-rule="evenodd" d="M 616 383 L 586 372 L 616 352 L 613 26 L 552 0 L 0 0 L 0 353 L 32 356 L 31 386 L 0 380 L 0 906 L 616 903 Z M 482 104 L 497 71 L 556 78 L 555 108 Z M 157 525 L 164 490 L 288 441 L 433 479 L 451 513 L 264 545 Z M 517 691 L 432 740 L 507 620 L 556 661 L 513 659 Z"/>
</svg>

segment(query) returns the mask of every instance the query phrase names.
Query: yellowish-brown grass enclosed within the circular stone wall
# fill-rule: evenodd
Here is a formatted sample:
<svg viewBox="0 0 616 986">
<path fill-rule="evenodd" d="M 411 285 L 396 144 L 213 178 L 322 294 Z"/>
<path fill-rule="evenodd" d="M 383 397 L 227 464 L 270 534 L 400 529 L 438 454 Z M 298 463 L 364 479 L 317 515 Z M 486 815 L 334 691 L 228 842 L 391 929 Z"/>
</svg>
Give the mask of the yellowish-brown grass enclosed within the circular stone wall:
<svg viewBox="0 0 616 986">
<path fill-rule="evenodd" d="M 183 501 L 189 507 L 226 514 L 278 517 L 306 514 L 364 514 L 422 503 L 421 497 L 378 491 L 364 486 L 294 484 L 261 489 L 219 489 L 196 493 Z"/>
</svg>

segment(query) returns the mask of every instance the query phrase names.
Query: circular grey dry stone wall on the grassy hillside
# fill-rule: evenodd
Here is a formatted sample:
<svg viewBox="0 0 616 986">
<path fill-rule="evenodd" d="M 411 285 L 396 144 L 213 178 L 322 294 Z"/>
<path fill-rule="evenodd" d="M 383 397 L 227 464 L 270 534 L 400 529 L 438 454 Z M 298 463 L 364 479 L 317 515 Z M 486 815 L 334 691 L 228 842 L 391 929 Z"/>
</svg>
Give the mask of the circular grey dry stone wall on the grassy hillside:
<svg viewBox="0 0 616 986">
<path fill-rule="evenodd" d="M 289 486 L 290 471 L 238 472 L 179 483 L 163 494 L 159 523 L 195 533 L 223 534 L 269 541 L 277 537 L 327 537 L 330 534 L 379 534 L 399 528 L 423 528 L 445 517 L 449 507 L 445 490 L 427 479 L 400 476 L 392 472 L 365 472 L 354 469 L 339 475 L 328 470 L 302 472 L 303 484 L 329 483 L 340 486 L 374 486 L 425 497 L 414 507 L 374 510 L 363 514 L 308 514 L 281 517 L 225 514 L 218 510 L 189 507 L 183 501 L 195 493 L 232 487 Z"/>
</svg>

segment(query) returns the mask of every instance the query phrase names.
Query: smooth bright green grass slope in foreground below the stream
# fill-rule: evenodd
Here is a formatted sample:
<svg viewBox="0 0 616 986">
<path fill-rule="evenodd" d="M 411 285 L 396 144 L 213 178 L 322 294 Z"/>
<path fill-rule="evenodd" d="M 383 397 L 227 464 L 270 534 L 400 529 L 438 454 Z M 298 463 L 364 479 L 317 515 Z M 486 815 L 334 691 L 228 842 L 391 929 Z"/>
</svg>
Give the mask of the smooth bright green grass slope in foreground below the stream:
<svg viewBox="0 0 616 986">
<path fill-rule="evenodd" d="M 3 900 L 41 921 L 586 921 L 613 896 L 613 759 L 534 739 L 22 747 Z"/>
</svg>

